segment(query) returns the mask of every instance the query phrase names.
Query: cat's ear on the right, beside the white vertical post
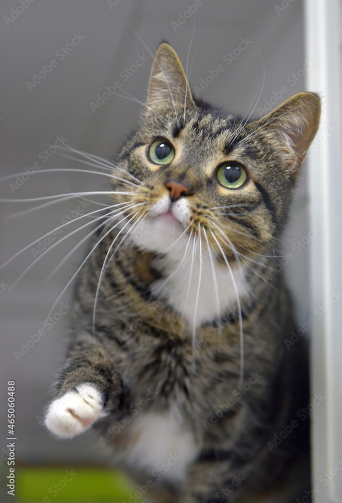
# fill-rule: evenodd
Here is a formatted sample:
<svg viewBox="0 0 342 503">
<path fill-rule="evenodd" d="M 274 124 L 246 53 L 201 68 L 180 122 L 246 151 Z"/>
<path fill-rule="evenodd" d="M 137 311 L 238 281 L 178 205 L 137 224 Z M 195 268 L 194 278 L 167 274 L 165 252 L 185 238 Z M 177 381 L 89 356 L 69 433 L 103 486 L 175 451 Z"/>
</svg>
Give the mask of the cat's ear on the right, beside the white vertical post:
<svg viewBox="0 0 342 503">
<path fill-rule="evenodd" d="M 319 117 L 318 96 L 314 93 L 299 93 L 259 121 L 263 128 L 279 133 L 284 150 L 292 157 L 292 162 L 288 164 L 290 172 L 295 172 L 301 165 L 317 133 Z"/>
</svg>

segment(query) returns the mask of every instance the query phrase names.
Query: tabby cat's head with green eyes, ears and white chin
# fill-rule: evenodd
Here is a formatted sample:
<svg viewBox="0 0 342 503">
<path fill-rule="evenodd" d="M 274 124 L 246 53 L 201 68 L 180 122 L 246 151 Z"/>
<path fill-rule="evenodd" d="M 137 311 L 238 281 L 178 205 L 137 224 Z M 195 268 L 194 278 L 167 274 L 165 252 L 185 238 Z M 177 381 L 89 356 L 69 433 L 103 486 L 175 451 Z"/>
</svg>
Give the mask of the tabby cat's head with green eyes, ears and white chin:
<svg viewBox="0 0 342 503">
<path fill-rule="evenodd" d="M 114 182 L 129 192 L 116 198 L 132 204 L 136 244 L 167 253 L 177 241 L 184 253 L 189 236 L 200 235 L 203 248 L 231 261 L 272 248 L 319 115 L 312 93 L 259 120 L 224 115 L 193 98 L 176 52 L 161 44 L 143 118 L 118 162 L 128 183 Z"/>
</svg>

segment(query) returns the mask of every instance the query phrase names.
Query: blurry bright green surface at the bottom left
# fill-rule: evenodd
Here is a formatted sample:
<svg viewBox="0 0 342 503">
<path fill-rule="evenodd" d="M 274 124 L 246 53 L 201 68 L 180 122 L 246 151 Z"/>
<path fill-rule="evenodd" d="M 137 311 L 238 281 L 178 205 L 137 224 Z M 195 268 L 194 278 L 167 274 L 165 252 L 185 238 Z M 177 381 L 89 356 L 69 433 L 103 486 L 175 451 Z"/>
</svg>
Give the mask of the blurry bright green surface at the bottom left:
<svg viewBox="0 0 342 503">
<path fill-rule="evenodd" d="M 92 468 L 17 468 L 16 495 L 20 503 L 63 501 L 121 503 L 136 487 L 119 472 Z"/>
</svg>

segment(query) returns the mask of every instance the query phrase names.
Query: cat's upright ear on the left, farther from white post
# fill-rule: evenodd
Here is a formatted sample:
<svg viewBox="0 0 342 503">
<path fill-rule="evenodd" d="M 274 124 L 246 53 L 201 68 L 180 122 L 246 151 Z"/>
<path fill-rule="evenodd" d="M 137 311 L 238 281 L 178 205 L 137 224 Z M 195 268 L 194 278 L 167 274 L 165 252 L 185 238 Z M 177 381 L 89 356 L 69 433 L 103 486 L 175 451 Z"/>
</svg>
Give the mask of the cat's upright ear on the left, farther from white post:
<svg viewBox="0 0 342 503">
<path fill-rule="evenodd" d="M 195 108 L 189 83 L 176 51 L 168 44 L 159 45 L 148 82 L 147 105 L 159 111 L 165 102 L 172 106 Z M 147 115 L 150 113 L 146 108 Z"/>
</svg>

